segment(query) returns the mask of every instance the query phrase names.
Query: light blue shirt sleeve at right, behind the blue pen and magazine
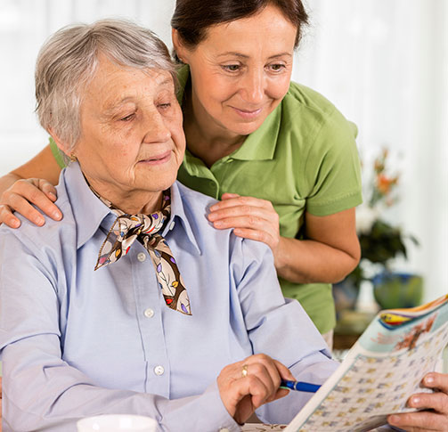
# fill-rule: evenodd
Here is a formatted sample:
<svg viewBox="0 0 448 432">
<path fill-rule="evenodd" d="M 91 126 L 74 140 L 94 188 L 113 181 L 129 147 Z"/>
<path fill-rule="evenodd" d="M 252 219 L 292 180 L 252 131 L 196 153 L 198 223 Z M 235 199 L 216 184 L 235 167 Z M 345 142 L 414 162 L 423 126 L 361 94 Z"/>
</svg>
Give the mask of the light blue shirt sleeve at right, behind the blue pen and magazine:
<svg viewBox="0 0 448 432">
<path fill-rule="evenodd" d="M 322 335 L 297 300 L 283 298 L 265 243 L 240 240 L 235 244 L 232 272 L 238 282 L 242 314 L 254 354 L 264 353 L 289 368 L 297 380 L 322 384 L 338 367 Z M 289 423 L 312 394 L 289 395 L 257 410 L 266 423 Z"/>
</svg>

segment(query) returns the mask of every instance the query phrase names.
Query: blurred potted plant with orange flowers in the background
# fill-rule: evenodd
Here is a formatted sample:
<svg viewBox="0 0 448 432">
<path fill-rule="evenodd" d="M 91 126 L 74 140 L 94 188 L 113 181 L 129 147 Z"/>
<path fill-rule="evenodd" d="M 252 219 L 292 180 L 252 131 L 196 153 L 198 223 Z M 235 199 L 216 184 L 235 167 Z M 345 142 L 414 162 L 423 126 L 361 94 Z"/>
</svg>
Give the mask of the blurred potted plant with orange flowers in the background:
<svg viewBox="0 0 448 432">
<path fill-rule="evenodd" d="M 390 175 L 388 151 L 383 148 L 374 160 L 371 180 L 364 184 L 366 202 L 356 208 L 356 232 L 361 245 L 361 261 L 345 281 L 335 284 L 338 309 L 354 307 L 362 281 L 371 281 L 375 299 L 381 308 L 411 307 L 421 302 L 423 281 L 419 275 L 395 273 L 391 263 L 395 257 L 407 258 L 406 242 L 419 245 L 400 225 L 389 224 L 381 214 L 397 202 L 396 186 L 400 175 Z M 347 294 L 349 289 L 353 293 Z M 347 305 L 347 298 L 353 301 Z M 342 305 L 341 305 L 342 301 Z"/>
</svg>

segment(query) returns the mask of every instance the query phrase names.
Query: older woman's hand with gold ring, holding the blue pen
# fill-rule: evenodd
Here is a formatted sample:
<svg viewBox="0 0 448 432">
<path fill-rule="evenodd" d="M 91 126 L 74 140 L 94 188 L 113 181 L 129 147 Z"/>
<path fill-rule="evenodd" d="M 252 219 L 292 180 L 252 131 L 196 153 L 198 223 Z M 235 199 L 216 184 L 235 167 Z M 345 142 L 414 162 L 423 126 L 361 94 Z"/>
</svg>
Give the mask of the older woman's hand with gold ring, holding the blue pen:
<svg viewBox="0 0 448 432">
<path fill-rule="evenodd" d="M 268 355 L 251 355 L 225 366 L 217 385 L 225 409 L 242 424 L 264 403 L 288 395 L 279 388 L 281 379 L 294 379 L 286 366 Z"/>
</svg>

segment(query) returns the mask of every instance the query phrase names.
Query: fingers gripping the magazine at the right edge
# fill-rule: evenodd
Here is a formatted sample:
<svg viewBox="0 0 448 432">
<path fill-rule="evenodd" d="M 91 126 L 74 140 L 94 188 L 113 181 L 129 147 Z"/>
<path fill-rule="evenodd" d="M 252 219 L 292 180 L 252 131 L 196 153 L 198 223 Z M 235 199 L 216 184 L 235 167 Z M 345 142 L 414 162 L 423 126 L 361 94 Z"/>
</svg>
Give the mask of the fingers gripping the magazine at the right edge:
<svg viewBox="0 0 448 432">
<path fill-rule="evenodd" d="M 431 372 L 422 381 L 423 386 L 439 391 L 411 395 L 408 405 L 420 412 L 388 416 L 390 425 L 411 432 L 423 430 L 448 430 L 448 374 Z"/>
</svg>

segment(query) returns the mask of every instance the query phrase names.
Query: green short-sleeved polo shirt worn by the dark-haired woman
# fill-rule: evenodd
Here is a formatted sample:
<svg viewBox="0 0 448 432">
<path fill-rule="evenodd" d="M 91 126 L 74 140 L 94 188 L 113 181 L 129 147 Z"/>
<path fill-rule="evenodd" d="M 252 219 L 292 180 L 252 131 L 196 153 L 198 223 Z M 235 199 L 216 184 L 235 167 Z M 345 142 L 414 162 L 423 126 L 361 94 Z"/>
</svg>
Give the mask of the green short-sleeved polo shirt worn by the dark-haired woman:
<svg viewBox="0 0 448 432">
<path fill-rule="evenodd" d="M 180 101 L 189 77 L 183 67 Z M 356 127 L 321 94 L 291 83 L 263 125 L 211 168 L 187 150 L 178 180 L 216 200 L 224 192 L 269 200 L 280 216 L 281 236 L 301 239 L 305 210 L 328 216 L 362 202 L 355 135 Z M 284 296 L 296 298 L 322 333 L 334 328 L 330 284 L 279 281 Z"/>
</svg>

